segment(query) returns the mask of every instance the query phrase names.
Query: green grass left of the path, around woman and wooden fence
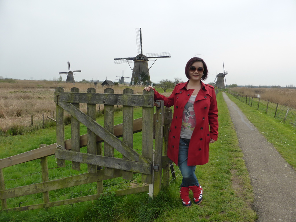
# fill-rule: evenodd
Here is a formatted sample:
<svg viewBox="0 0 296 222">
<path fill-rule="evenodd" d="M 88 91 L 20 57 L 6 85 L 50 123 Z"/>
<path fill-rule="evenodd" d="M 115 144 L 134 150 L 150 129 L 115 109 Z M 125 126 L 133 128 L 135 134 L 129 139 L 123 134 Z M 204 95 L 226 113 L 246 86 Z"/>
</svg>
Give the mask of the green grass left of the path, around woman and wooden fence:
<svg viewBox="0 0 296 222">
<path fill-rule="evenodd" d="M 174 166 L 176 179 L 170 180 L 168 188 L 163 189 L 151 202 L 148 200 L 147 193 L 116 197 L 113 191 L 128 187 L 130 182 L 116 178 L 104 181 L 105 192 L 108 192 L 109 195 L 101 197 L 99 200 L 52 207 L 46 210 L 1 212 L 0 221 L 255 221 L 256 214 L 250 207 L 253 201 L 250 178 L 242 160 L 243 155 L 238 146 L 234 126 L 221 93 L 218 94 L 217 101 L 220 124 L 219 139 L 210 144 L 209 163 L 197 166 L 196 170 L 197 178 L 204 188 L 204 200 L 200 205 L 194 205 L 191 208 L 182 206 L 179 194 L 182 178 L 178 167 Z M 135 112 L 136 115 L 139 115 L 139 113 Z M 99 123 L 101 123 L 100 121 L 102 120 L 98 119 Z M 81 130 L 81 134 L 85 133 L 83 130 Z M 65 127 L 65 131 L 66 138 L 69 138 L 68 126 Z M 134 135 L 134 141 L 141 141 L 140 136 L 141 134 L 139 136 Z M 1 152 L 0 158 L 35 149 L 41 143 L 54 143 L 54 140 L 54 128 L 43 129 L 22 136 L 1 138 L 0 147 L 5 151 L 4 153 Z M 49 168 L 51 167 L 56 167 L 54 158 L 49 160 Z M 11 179 L 28 175 L 39 171 L 39 169 L 39 161 L 31 161 L 19 167 L 3 169 L 4 178 Z M 52 178 L 71 175 L 71 173 L 77 172 L 71 170 L 70 166 L 50 170 Z M 29 178 L 19 179 L 17 184 L 13 181 L 5 181 L 5 185 L 6 188 L 8 188 L 7 186 L 20 186 L 29 182 L 32 183 L 32 180 L 38 181 L 38 178 L 40 178 L 40 175 L 34 174 Z M 133 182 L 141 183 L 139 174 L 134 175 L 133 179 Z M 234 181 L 237 186 L 233 186 Z M 96 192 L 95 184 L 54 191 L 50 193 L 50 198 L 51 195 L 54 195 L 56 197 L 53 198 L 67 199 L 71 195 L 72 197 L 74 197 L 73 195 L 89 195 L 92 192 Z M 28 205 L 28 203 L 34 202 L 34 198 L 40 198 L 42 202 L 42 194 L 30 196 L 32 197 L 20 197 L 19 200 L 15 201 L 12 200 L 15 198 L 8 199 L 7 202 L 13 201 L 16 205 L 20 202 L 29 201 L 24 203 L 24 205 Z M 54 199 L 51 198 L 51 200 Z"/>
</svg>

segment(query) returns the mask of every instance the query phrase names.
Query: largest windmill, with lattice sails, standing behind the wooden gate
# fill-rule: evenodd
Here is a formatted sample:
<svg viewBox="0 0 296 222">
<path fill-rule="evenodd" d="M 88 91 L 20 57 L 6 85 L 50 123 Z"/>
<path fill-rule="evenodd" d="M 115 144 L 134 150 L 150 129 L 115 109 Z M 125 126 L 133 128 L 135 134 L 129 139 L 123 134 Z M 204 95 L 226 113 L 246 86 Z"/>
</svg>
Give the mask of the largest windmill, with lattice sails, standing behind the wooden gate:
<svg viewBox="0 0 296 222">
<path fill-rule="evenodd" d="M 115 64 L 134 62 L 131 76 L 131 85 L 151 85 L 149 69 L 158 58 L 170 58 L 170 52 L 147 53 L 146 56 L 142 51 L 142 31 L 141 28 L 136 28 L 136 43 L 137 53 L 136 57 L 126 57 L 114 59 Z M 154 60 L 153 64 L 148 68 L 148 61 Z"/>
</svg>

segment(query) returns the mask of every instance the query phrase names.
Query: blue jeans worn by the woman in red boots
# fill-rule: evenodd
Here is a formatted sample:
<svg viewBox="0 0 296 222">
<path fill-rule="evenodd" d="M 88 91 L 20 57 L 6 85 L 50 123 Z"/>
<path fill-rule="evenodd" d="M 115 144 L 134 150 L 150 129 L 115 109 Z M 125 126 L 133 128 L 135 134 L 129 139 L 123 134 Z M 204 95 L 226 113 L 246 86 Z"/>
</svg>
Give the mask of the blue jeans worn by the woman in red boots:
<svg viewBox="0 0 296 222">
<path fill-rule="evenodd" d="M 183 176 L 181 187 L 200 185 L 195 176 L 196 166 L 187 166 L 189 141 L 190 139 L 180 138 L 179 143 L 178 167 Z"/>
</svg>

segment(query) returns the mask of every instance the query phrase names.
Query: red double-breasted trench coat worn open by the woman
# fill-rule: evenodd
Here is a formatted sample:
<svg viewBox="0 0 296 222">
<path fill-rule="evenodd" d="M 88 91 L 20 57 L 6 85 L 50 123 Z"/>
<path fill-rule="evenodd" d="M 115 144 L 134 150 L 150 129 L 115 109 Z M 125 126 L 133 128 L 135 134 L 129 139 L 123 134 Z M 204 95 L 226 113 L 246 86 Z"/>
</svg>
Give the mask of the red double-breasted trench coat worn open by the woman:
<svg viewBox="0 0 296 222">
<path fill-rule="evenodd" d="M 168 157 L 178 165 L 179 141 L 182 115 L 194 89 L 186 89 L 187 83 L 175 86 L 169 97 L 160 95 L 155 89 L 154 99 L 164 100 L 166 107 L 174 106 L 173 120 L 168 138 Z M 194 102 L 196 126 L 193 130 L 188 149 L 188 165 L 203 165 L 209 162 L 210 139 L 218 139 L 218 108 L 213 86 L 201 81 L 201 89 Z M 209 129 L 210 125 L 210 129 Z"/>
</svg>

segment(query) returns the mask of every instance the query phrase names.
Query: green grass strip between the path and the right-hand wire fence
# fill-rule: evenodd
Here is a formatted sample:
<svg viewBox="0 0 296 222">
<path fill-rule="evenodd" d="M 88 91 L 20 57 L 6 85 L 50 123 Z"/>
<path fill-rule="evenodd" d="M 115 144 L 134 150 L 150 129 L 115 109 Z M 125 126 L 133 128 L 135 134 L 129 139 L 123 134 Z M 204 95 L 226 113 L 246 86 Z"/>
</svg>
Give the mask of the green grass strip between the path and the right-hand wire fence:
<svg viewBox="0 0 296 222">
<path fill-rule="evenodd" d="M 229 98 L 237 104 L 244 115 L 254 124 L 268 142 L 274 145 L 276 150 L 284 159 L 296 170 L 296 128 L 289 123 L 284 123 L 282 119 L 274 118 L 276 104 L 269 102 L 268 112 L 266 113 L 267 101 L 260 100 L 259 110 L 258 99 L 253 100 L 252 107 L 239 101 L 231 94 Z M 255 104 L 255 105 L 254 105 Z"/>
</svg>

